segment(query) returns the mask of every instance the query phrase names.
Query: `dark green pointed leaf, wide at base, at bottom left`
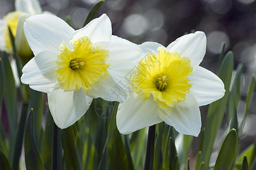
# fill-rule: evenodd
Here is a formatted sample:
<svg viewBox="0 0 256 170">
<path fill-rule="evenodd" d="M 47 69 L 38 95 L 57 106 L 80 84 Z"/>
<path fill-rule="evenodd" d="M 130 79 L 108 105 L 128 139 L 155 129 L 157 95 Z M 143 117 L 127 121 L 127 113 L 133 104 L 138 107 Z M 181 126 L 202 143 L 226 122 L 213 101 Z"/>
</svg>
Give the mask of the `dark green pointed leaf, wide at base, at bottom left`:
<svg viewBox="0 0 256 170">
<path fill-rule="evenodd" d="M 43 162 L 40 158 L 39 152 L 36 148 L 35 139 L 33 137 L 33 109 L 30 111 L 26 124 L 24 151 L 27 170 L 44 169 Z"/>
</svg>

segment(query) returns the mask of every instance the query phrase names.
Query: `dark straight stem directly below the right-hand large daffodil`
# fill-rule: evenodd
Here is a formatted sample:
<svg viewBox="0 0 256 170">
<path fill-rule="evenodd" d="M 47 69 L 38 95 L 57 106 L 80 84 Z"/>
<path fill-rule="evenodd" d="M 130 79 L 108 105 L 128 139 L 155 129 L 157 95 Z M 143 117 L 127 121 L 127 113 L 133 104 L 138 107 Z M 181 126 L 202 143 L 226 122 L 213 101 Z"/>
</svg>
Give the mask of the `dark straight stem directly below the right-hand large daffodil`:
<svg viewBox="0 0 256 170">
<path fill-rule="evenodd" d="M 154 138 L 156 133 L 156 125 L 152 125 L 149 127 L 148 134 L 148 143 L 146 146 L 146 160 L 145 160 L 145 170 L 153 169 L 154 162 Z"/>
</svg>

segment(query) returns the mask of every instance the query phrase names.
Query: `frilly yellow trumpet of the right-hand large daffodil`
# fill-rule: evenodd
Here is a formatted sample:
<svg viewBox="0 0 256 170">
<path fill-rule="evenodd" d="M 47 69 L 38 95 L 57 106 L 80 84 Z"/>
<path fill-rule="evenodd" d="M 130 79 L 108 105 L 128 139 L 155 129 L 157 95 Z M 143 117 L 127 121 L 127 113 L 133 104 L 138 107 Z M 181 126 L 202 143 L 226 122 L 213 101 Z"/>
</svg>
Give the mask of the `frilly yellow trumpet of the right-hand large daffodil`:
<svg viewBox="0 0 256 170">
<path fill-rule="evenodd" d="M 160 46 L 157 54 L 147 53 L 137 64 L 136 74 L 131 76 L 133 90 L 145 101 L 151 95 L 161 109 L 174 107 L 186 100 L 192 83 L 190 58 L 180 52 L 169 52 Z"/>
</svg>

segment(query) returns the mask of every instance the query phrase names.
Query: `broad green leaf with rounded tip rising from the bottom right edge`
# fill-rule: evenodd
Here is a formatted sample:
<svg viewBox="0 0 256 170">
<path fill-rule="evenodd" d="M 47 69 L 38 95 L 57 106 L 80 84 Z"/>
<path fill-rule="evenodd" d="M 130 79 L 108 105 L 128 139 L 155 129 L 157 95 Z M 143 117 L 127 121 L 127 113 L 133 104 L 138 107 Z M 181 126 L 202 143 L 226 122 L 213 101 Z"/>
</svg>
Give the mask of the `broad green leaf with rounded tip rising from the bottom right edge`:
<svg viewBox="0 0 256 170">
<path fill-rule="evenodd" d="M 236 157 L 237 151 L 237 132 L 235 129 L 229 131 L 220 148 L 219 154 L 213 170 L 230 169 Z"/>
</svg>

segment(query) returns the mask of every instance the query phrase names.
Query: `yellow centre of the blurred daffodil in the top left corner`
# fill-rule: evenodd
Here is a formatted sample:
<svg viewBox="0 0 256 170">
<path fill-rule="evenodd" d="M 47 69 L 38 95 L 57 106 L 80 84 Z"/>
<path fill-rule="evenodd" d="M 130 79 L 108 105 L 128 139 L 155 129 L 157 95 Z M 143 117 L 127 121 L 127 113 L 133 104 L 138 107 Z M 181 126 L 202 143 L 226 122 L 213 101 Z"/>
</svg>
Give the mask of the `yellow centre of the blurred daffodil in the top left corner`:
<svg viewBox="0 0 256 170">
<path fill-rule="evenodd" d="M 6 48 L 7 53 L 10 53 L 10 54 L 13 53 L 12 44 L 11 44 L 11 38 L 10 38 L 10 33 L 9 33 L 8 27 L 10 27 L 11 33 L 15 37 L 16 36 L 16 29 L 17 29 L 17 25 L 18 25 L 18 20 L 19 20 L 20 15 L 22 15 L 22 14 L 23 14 L 23 12 L 18 12 L 18 11 L 9 12 L 3 18 L 6 21 L 6 23 L 7 23 L 7 26 L 4 29 L 5 48 Z"/>
</svg>

